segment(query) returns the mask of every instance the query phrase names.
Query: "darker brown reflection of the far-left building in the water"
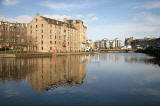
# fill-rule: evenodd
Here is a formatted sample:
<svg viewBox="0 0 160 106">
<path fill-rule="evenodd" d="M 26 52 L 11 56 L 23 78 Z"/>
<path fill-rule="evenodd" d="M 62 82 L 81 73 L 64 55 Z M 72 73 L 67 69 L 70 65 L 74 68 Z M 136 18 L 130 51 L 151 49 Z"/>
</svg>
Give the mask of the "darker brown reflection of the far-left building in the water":
<svg viewBox="0 0 160 106">
<path fill-rule="evenodd" d="M 19 81 L 34 69 L 32 59 L 0 58 L 0 81 Z"/>
</svg>

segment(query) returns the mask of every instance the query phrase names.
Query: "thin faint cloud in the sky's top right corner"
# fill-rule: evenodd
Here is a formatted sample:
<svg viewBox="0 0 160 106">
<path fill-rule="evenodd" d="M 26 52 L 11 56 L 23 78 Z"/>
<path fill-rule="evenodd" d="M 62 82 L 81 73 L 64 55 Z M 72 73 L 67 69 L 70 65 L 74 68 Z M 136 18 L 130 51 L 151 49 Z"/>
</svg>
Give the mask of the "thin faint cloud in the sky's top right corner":
<svg viewBox="0 0 160 106">
<path fill-rule="evenodd" d="M 160 1 L 151 1 L 143 4 L 138 4 L 134 8 L 145 8 L 145 9 L 160 8 Z"/>
</svg>

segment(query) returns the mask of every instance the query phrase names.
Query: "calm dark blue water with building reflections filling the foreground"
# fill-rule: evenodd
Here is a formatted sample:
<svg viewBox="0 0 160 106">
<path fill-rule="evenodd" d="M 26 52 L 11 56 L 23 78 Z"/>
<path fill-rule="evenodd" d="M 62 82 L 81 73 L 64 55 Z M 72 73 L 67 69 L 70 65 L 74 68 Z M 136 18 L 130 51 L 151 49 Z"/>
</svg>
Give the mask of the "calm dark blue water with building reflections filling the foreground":
<svg viewBox="0 0 160 106">
<path fill-rule="evenodd" d="M 0 59 L 0 106 L 160 106 L 160 62 L 138 53 Z"/>
</svg>

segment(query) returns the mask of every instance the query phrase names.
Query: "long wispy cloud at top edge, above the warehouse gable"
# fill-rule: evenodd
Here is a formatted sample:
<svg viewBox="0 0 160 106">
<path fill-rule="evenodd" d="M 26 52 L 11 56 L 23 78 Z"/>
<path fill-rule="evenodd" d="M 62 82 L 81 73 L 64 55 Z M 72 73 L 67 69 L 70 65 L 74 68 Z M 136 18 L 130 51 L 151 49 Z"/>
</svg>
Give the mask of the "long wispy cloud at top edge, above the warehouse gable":
<svg viewBox="0 0 160 106">
<path fill-rule="evenodd" d="M 61 3 L 45 1 L 40 3 L 41 6 L 45 6 L 54 10 L 72 10 L 72 9 L 83 9 L 89 7 L 88 3 Z"/>
</svg>

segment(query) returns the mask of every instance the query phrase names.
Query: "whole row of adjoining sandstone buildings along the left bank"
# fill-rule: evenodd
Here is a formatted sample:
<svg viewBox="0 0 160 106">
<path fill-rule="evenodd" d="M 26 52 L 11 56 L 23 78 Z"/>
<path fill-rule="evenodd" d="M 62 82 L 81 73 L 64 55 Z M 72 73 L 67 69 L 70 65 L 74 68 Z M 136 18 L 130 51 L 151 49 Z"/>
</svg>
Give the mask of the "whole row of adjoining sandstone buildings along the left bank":
<svg viewBox="0 0 160 106">
<path fill-rule="evenodd" d="M 81 20 L 58 21 L 40 16 L 25 24 L 2 22 L 0 48 L 35 52 L 81 52 L 86 44 L 87 27 Z M 4 24 L 5 23 L 5 24 Z M 23 33 L 22 33 L 23 32 Z M 18 42 L 18 43 L 17 43 Z"/>
</svg>

